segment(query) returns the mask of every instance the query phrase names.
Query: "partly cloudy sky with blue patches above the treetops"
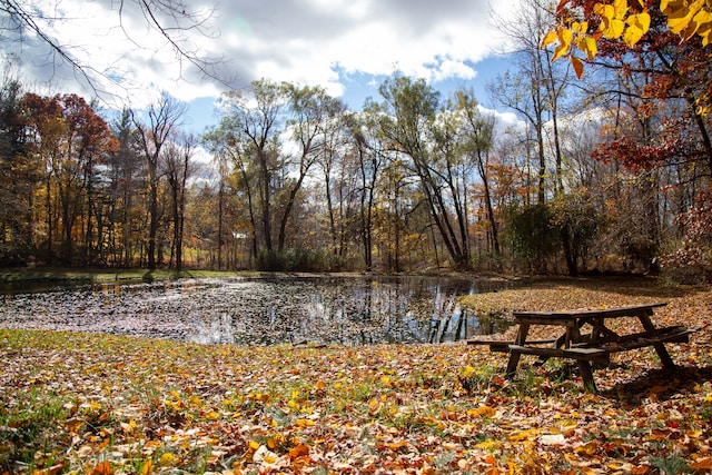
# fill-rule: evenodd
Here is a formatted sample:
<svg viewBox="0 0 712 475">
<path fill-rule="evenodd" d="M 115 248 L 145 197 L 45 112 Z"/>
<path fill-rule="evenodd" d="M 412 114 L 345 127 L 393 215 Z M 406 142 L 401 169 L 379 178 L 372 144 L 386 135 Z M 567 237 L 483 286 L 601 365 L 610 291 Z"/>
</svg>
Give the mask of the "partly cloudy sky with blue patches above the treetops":
<svg viewBox="0 0 712 475">
<path fill-rule="evenodd" d="M 210 1 L 210 0 L 208 0 Z M 158 2 L 152 0 L 150 4 Z M 138 0 L 26 0 L 41 9 L 42 32 L 92 78 L 30 33 L 22 41 L 0 32 L 3 50 L 20 59 L 21 79 L 43 93 L 98 96 L 107 109 L 141 109 L 167 91 L 188 103 L 185 127 L 200 132 L 219 121 L 222 91 L 268 78 L 322 86 L 359 109 L 380 100 L 378 85 L 398 71 L 425 78 L 443 93 L 472 87 L 487 105 L 484 86 L 511 67 L 506 39 L 492 16 L 507 18 L 514 1 L 496 0 L 222 0 L 184 1 L 199 28 L 175 30 L 179 47 L 207 61 L 209 75 L 180 60 L 147 20 Z M 158 18 L 164 26 L 172 20 Z M 52 18 L 59 21 L 52 21 Z M 186 24 L 186 23 L 184 23 Z M 102 79 L 108 77 L 111 80 Z"/>
</svg>

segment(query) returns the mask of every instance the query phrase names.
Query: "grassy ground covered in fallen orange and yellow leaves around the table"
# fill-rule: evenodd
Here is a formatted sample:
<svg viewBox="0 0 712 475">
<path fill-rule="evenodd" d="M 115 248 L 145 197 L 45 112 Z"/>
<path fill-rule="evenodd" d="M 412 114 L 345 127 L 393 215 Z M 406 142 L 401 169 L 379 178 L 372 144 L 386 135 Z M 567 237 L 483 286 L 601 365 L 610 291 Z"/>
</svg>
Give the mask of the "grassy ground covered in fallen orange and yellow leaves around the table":
<svg viewBox="0 0 712 475">
<path fill-rule="evenodd" d="M 472 311 L 669 301 L 704 325 L 709 288 L 546 280 Z M 622 325 L 627 323 L 623 321 Z M 615 355 L 585 393 L 573 366 L 486 347 L 204 346 L 0 330 L 0 473 L 710 473 L 712 333 Z"/>
</svg>

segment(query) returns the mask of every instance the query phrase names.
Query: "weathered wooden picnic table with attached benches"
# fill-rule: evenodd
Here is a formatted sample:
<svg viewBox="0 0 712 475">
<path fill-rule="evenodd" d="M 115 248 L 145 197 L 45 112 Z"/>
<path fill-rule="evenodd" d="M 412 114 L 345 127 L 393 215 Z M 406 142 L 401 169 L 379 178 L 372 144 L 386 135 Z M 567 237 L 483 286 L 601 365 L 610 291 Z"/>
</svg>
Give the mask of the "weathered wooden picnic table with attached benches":
<svg viewBox="0 0 712 475">
<path fill-rule="evenodd" d="M 651 316 L 655 308 L 664 305 L 666 304 L 659 303 L 596 310 L 515 311 L 514 320 L 518 329 L 514 342 L 472 339 L 468 344 L 488 345 L 493 352 L 508 353 L 506 372 L 510 377 L 516 373 L 522 355 L 535 355 L 542 360 L 575 359 L 584 386 L 596 390 L 591 363 L 607 365 L 612 353 L 652 346 L 665 368 L 675 367 L 665 343 L 688 343 L 689 335 L 700 328 L 681 325 L 655 327 Z M 611 320 L 623 317 L 637 318 L 643 331 L 621 335 L 606 326 Z M 551 339 L 528 339 L 530 328 L 537 325 L 562 327 L 562 334 Z M 591 330 L 582 333 L 584 326 Z"/>
</svg>

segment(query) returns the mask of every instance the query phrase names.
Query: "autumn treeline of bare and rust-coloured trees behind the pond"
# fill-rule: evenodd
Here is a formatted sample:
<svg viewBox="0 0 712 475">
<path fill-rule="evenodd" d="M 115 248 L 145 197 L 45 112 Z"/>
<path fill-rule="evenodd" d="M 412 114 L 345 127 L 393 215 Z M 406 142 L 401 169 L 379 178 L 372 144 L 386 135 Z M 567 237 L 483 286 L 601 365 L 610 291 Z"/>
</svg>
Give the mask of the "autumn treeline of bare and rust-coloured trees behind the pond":
<svg viewBox="0 0 712 475">
<path fill-rule="evenodd" d="M 553 18 L 534 0 L 518 14 L 491 108 L 400 73 L 356 111 L 263 79 L 195 137 L 167 95 L 107 123 L 6 77 L 0 261 L 709 275 L 710 47 L 653 16 L 640 48 L 603 40 L 581 81 L 540 48 Z"/>
</svg>

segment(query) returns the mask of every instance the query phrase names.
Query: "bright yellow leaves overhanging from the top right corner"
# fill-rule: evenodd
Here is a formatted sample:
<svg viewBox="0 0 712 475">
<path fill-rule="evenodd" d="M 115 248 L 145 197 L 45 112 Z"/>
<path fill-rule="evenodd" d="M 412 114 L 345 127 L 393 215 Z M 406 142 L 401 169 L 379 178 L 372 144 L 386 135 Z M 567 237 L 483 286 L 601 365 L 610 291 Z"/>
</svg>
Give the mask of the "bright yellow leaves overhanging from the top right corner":
<svg viewBox="0 0 712 475">
<path fill-rule="evenodd" d="M 587 21 L 574 21 L 565 8 L 571 0 L 561 0 L 556 14 L 561 26 L 542 40 L 542 48 L 556 43 L 552 61 L 567 57 L 578 79 L 583 76 L 583 61 L 575 56 L 581 51 L 592 60 L 597 53 L 597 40 L 622 40 L 630 48 L 635 46 L 650 28 L 650 13 L 641 0 L 613 0 L 599 2 L 593 13 L 600 20 L 596 31 L 589 31 Z M 712 9 L 705 0 L 661 0 L 660 10 L 668 17 L 670 31 L 683 41 L 699 36 L 702 46 L 712 40 Z"/>
</svg>

